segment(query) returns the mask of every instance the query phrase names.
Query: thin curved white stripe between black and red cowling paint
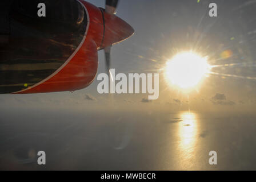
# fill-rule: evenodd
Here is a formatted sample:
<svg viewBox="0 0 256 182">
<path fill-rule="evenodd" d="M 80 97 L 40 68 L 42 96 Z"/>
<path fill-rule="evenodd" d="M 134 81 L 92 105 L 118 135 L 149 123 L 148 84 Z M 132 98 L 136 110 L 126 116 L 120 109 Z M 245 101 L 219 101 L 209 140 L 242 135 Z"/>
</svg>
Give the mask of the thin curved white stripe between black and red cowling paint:
<svg viewBox="0 0 256 182">
<path fill-rule="evenodd" d="M 35 86 L 38 86 L 38 85 L 41 85 L 43 84 L 43 82 L 46 82 L 47 80 L 49 80 L 50 78 L 54 77 L 55 75 L 57 75 L 58 72 L 60 72 L 68 63 L 71 59 L 73 59 L 73 57 L 77 54 L 77 52 L 79 51 L 79 49 L 81 48 L 81 46 L 83 45 L 83 43 L 85 42 L 85 38 L 86 38 L 86 35 L 87 35 L 87 32 L 89 30 L 89 24 L 90 24 L 90 19 L 89 19 L 89 13 L 85 7 L 85 5 L 83 5 L 82 2 L 80 2 L 79 0 L 77 0 L 84 8 L 85 8 L 85 11 L 86 11 L 86 15 L 87 15 L 87 27 L 86 27 L 86 31 L 85 31 L 85 35 L 83 36 L 83 40 L 82 42 L 79 44 L 79 46 L 77 47 L 77 49 L 75 49 L 75 51 L 73 52 L 73 54 L 69 57 L 69 59 L 67 59 L 65 61 L 64 64 L 61 65 L 61 67 L 59 67 L 59 69 L 57 69 L 57 71 L 55 71 L 53 74 L 51 74 L 49 77 L 45 78 L 44 80 L 38 82 L 37 84 L 31 86 L 30 88 L 26 88 L 24 90 L 20 90 L 20 91 L 17 91 L 17 92 L 13 92 L 13 93 L 9 93 L 9 94 L 18 94 L 20 92 L 25 92 L 26 90 L 30 90 L 32 88 L 34 88 Z"/>
</svg>

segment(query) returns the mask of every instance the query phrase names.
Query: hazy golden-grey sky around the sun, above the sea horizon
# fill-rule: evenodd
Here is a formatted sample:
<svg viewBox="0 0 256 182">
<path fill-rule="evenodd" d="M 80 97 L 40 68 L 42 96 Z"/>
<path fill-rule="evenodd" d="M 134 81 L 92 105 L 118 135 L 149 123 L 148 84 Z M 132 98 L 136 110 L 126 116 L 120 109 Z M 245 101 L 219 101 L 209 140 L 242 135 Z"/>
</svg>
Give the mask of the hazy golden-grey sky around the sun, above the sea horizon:
<svg viewBox="0 0 256 182">
<path fill-rule="evenodd" d="M 104 7 L 103 1 L 89 2 Z M 217 17 L 208 15 L 209 3 L 196 0 L 119 3 L 117 15 L 134 28 L 135 34 L 113 46 L 111 68 L 117 73 L 159 73 L 158 100 L 145 102 L 143 98 L 148 94 L 98 94 L 99 81 L 95 79 L 93 84 L 74 93 L 2 95 L 0 105 L 52 109 L 54 105 L 74 108 L 86 105 L 90 109 L 106 109 L 106 105 L 110 105 L 122 109 L 253 111 L 256 104 L 256 24 L 253 11 L 256 3 L 215 1 Z M 210 65 L 233 65 L 211 69 L 217 75 L 207 75 L 196 88 L 184 93 L 166 81 L 163 69 L 175 54 L 190 50 L 207 56 Z M 98 55 L 99 74 L 105 72 L 105 63 L 103 51 Z M 220 100 L 219 95 L 223 95 Z"/>
</svg>

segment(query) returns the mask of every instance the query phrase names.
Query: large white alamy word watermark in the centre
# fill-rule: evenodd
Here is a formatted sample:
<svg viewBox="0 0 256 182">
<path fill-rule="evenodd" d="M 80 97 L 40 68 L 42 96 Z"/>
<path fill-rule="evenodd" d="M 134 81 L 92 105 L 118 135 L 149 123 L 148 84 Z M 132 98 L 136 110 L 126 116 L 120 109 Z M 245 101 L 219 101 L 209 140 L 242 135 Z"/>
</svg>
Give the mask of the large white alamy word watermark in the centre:
<svg viewBox="0 0 256 182">
<path fill-rule="evenodd" d="M 127 76 L 125 73 L 115 75 L 115 69 L 110 69 L 110 78 L 106 73 L 100 73 L 97 80 L 101 81 L 97 86 L 100 94 L 149 93 L 149 100 L 159 97 L 159 73 L 129 73 Z"/>
</svg>

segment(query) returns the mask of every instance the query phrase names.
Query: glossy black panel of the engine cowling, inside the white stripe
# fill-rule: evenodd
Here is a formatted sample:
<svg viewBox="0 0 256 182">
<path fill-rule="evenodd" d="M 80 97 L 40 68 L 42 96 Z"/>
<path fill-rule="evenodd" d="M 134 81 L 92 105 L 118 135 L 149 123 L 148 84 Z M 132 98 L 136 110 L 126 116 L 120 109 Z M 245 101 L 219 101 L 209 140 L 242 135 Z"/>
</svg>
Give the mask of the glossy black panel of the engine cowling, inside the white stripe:
<svg viewBox="0 0 256 182">
<path fill-rule="evenodd" d="M 45 3 L 46 16 L 38 16 Z M 82 42 L 87 14 L 77 0 L 1 0 L 0 93 L 54 73 Z"/>
</svg>

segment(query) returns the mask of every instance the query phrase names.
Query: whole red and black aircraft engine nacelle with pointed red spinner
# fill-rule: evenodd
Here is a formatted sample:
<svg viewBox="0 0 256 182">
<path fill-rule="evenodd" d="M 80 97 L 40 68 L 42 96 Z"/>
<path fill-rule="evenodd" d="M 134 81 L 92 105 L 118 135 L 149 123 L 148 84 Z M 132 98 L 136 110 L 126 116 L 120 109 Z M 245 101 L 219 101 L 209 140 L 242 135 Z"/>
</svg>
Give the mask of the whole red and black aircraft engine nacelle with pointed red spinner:
<svg viewBox="0 0 256 182">
<path fill-rule="evenodd" d="M 97 74 L 97 51 L 134 32 L 122 19 L 82 0 L 5 2 L 10 29 L 0 34 L 5 38 L 0 41 L 0 93 L 85 88 Z M 37 16 L 38 3 L 45 3 L 46 17 Z"/>
</svg>

